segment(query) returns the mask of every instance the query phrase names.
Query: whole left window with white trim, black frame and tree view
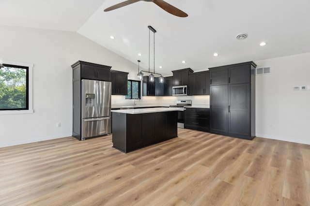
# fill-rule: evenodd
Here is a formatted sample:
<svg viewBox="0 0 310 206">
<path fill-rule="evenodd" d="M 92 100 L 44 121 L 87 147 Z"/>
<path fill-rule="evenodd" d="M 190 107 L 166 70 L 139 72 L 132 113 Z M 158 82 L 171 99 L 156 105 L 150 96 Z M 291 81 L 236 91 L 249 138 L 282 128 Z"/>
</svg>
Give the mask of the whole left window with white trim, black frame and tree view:
<svg viewBox="0 0 310 206">
<path fill-rule="evenodd" d="M 3 62 L 0 68 L 0 114 L 32 113 L 32 64 Z"/>
</svg>

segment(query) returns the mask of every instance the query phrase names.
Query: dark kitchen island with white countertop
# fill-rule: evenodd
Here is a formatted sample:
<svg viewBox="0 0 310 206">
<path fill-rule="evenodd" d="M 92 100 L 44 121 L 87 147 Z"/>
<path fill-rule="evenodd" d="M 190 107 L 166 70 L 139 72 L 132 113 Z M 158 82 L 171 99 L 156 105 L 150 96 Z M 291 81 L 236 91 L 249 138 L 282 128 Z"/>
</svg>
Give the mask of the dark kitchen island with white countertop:
<svg viewBox="0 0 310 206">
<path fill-rule="evenodd" d="M 112 110 L 113 147 L 124 153 L 178 136 L 178 108 Z"/>
</svg>

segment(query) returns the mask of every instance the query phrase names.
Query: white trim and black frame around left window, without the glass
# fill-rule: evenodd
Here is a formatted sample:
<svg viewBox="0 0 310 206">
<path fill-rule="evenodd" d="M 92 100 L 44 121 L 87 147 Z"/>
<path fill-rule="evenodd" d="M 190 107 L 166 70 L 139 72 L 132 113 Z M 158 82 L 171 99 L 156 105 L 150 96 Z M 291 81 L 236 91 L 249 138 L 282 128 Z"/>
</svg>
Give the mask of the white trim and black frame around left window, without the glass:
<svg viewBox="0 0 310 206">
<path fill-rule="evenodd" d="M 3 60 L 3 66 L 12 66 L 16 68 L 28 68 L 26 73 L 26 108 L 16 108 L 16 109 L 0 109 L 0 115 L 10 115 L 10 114 L 29 114 L 33 113 L 32 107 L 32 70 L 33 64 L 31 63 L 22 63 L 15 61 L 6 61 Z M 28 105 L 27 105 L 28 104 Z"/>
</svg>

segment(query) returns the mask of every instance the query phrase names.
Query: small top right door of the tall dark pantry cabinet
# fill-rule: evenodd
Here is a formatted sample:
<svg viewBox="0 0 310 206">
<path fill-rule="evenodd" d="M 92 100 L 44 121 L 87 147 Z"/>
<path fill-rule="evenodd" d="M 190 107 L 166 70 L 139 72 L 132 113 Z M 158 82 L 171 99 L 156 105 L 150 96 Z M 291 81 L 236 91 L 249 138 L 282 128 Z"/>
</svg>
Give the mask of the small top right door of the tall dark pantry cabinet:
<svg viewBox="0 0 310 206">
<path fill-rule="evenodd" d="M 228 68 L 229 84 L 250 83 L 250 65 L 233 66 Z"/>
</svg>

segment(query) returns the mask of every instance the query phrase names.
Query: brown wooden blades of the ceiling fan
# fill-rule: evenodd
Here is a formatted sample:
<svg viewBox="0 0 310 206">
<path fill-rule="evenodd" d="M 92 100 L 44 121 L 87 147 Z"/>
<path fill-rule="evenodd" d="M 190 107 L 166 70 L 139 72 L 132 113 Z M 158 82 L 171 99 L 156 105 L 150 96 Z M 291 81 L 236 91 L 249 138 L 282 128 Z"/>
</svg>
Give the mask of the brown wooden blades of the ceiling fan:
<svg viewBox="0 0 310 206">
<path fill-rule="evenodd" d="M 123 6 L 127 6 L 129 4 L 136 3 L 138 1 L 141 1 L 141 0 L 126 0 L 126 1 L 124 1 L 122 3 L 118 3 L 118 4 L 115 4 L 113 6 L 110 6 L 109 8 L 105 9 L 104 11 L 105 12 L 109 12 L 109 11 L 112 11 L 114 9 L 121 8 Z M 171 4 L 167 3 L 164 0 L 143 0 L 143 1 L 151 1 L 151 2 L 153 2 L 157 6 L 159 6 L 163 10 L 165 10 L 166 12 L 170 13 L 171 15 L 175 15 L 175 16 L 179 16 L 179 17 L 186 17 L 186 16 L 188 16 L 185 12 L 183 12 L 180 9 L 172 6 Z"/>
</svg>

